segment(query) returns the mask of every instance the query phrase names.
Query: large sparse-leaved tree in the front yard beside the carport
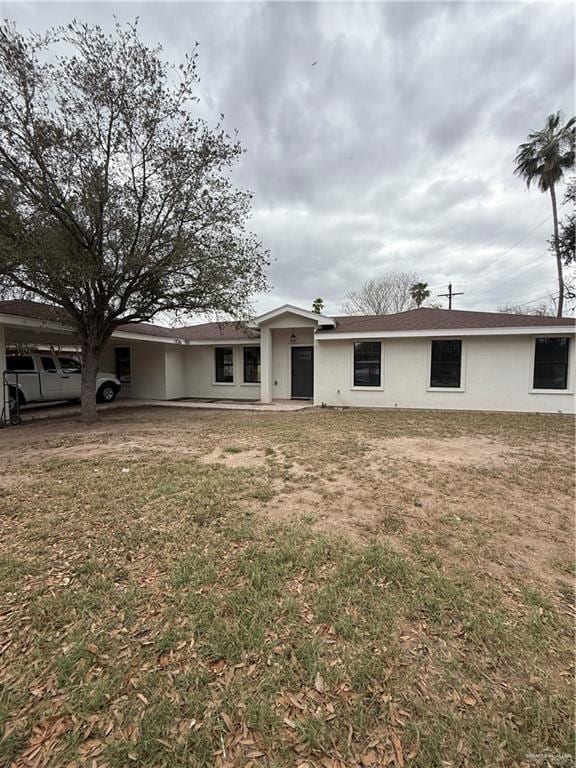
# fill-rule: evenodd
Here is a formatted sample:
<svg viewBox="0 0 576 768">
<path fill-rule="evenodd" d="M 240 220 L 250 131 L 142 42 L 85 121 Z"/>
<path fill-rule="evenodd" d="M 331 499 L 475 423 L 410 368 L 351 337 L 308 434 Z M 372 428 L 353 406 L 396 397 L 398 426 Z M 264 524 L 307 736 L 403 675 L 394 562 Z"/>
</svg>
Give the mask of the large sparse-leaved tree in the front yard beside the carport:
<svg viewBox="0 0 576 768">
<path fill-rule="evenodd" d="M 85 420 L 118 325 L 242 315 L 266 287 L 251 196 L 229 175 L 242 148 L 194 115 L 197 81 L 195 50 L 170 65 L 136 25 L 0 27 L 0 287 L 70 317 Z"/>
</svg>

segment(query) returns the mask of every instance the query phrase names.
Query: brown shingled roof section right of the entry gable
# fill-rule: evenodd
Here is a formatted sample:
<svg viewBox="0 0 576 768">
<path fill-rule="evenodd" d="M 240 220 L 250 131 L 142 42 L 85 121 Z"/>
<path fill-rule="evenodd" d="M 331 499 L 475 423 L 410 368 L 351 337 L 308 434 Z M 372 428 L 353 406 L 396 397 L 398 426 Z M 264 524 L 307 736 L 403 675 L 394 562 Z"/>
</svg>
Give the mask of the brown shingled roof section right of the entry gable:
<svg viewBox="0 0 576 768">
<path fill-rule="evenodd" d="M 335 317 L 335 328 L 319 334 L 369 333 L 371 331 L 440 331 L 467 328 L 530 328 L 574 325 L 573 317 L 513 315 L 505 312 L 471 312 L 463 309 L 410 309 L 394 315 L 348 315 Z"/>
</svg>

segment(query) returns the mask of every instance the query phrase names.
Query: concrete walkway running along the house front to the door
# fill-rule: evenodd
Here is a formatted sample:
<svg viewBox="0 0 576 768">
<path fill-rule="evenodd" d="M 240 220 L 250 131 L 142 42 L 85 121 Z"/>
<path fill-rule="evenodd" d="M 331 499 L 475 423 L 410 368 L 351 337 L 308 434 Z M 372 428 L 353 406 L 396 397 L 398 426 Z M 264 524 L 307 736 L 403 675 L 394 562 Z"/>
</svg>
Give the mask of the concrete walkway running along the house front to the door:
<svg viewBox="0 0 576 768">
<path fill-rule="evenodd" d="M 138 400 L 119 399 L 113 403 L 99 405 L 98 411 L 114 411 L 119 408 L 201 408 L 216 411 L 303 411 L 312 408 L 309 401 L 276 400 L 273 403 L 257 401 L 232 402 L 230 400 Z M 79 416 L 79 405 L 52 403 L 50 405 L 29 405 L 20 412 L 23 422 L 39 419 L 57 419 Z"/>
</svg>

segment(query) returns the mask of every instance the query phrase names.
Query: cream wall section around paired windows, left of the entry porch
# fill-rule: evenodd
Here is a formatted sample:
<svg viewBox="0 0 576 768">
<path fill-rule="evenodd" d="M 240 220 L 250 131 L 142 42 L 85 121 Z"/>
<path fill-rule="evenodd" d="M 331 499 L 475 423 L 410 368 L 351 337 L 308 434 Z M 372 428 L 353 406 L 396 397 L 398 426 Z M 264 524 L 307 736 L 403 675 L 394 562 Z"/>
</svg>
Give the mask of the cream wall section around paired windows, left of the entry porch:
<svg viewBox="0 0 576 768">
<path fill-rule="evenodd" d="M 214 382 L 214 346 L 186 347 L 184 349 L 186 397 L 258 400 L 260 398 L 260 385 L 244 384 L 243 381 L 244 346 L 253 347 L 258 346 L 258 344 L 218 344 L 216 346 L 232 346 L 234 350 L 234 382 L 232 384 Z"/>
</svg>

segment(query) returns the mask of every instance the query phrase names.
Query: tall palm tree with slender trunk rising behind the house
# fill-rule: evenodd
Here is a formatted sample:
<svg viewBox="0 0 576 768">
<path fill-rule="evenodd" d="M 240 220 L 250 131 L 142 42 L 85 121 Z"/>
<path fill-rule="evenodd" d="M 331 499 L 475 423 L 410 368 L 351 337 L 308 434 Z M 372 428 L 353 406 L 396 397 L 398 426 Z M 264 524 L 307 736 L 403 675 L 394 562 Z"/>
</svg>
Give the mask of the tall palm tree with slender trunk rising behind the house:
<svg viewBox="0 0 576 768">
<path fill-rule="evenodd" d="M 565 124 L 563 121 L 564 115 L 556 112 L 548 116 L 546 125 L 541 131 L 532 131 L 528 134 L 528 141 L 518 147 L 514 171 L 526 181 L 527 187 L 536 182 L 542 192 L 550 192 L 554 219 L 554 250 L 558 270 L 558 317 L 562 316 L 564 309 L 564 277 L 558 235 L 556 185 L 562 180 L 564 172 L 574 167 L 576 140 L 576 118 L 571 118 Z"/>
</svg>

